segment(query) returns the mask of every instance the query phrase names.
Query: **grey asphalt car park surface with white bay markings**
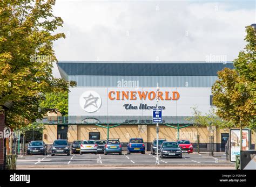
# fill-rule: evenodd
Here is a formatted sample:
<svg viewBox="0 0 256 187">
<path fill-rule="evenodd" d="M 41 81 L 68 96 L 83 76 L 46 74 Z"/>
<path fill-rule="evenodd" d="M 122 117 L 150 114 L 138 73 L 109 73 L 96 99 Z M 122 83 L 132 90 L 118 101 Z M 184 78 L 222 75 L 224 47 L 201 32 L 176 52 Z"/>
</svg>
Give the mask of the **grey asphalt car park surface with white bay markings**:
<svg viewBox="0 0 256 187">
<path fill-rule="evenodd" d="M 43 155 L 24 155 L 17 159 L 17 168 L 49 168 L 49 167 L 110 167 L 110 166 L 154 166 L 156 163 L 156 155 L 151 155 L 149 152 L 145 154 L 134 153 L 127 155 L 123 152 L 118 154 L 72 154 L 43 156 Z M 226 161 L 226 156 L 223 153 L 215 154 L 214 157 L 208 154 L 183 154 L 182 159 L 165 158 L 159 159 L 160 165 L 163 166 L 211 166 L 211 167 L 232 167 L 233 163 Z"/>
</svg>

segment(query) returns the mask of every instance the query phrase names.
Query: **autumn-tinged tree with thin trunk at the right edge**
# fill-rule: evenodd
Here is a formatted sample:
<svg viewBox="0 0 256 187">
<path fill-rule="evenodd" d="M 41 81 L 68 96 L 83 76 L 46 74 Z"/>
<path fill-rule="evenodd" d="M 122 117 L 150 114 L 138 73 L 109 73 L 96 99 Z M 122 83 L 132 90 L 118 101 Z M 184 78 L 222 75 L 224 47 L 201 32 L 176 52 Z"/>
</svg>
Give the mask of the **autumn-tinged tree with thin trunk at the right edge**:
<svg viewBox="0 0 256 187">
<path fill-rule="evenodd" d="M 234 68 L 224 68 L 218 72 L 218 80 L 213 84 L 213 104 L 216 114 L 230 121 L 229 127 L 240 128 L 240 145 L 242 128 L 255 127 L 255 75 L 256 75 L 256 31 L 246 27 L 247 42 L 245 50 L 234 60 Z M 241 146 L 240 146 L 241 147 Z"/>
</svg>

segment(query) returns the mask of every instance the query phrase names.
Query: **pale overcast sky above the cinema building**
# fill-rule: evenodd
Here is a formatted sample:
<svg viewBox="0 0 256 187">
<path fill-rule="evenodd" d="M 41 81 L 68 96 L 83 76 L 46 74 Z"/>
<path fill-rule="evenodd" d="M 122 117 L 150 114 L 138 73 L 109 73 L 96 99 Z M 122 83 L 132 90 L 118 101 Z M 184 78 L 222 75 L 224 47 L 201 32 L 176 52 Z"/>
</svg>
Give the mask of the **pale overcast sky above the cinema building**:
<svg viewBox="0 0 256 187">
<path fill-rule="evenodd" d="M 66 39 L 59 61 L 205 61 L 237 57 L 245 26 L 256 23 L 255 1 L 57 0 Z M 54 70 L 56 74 L 56 68 Z"/>
</svg>

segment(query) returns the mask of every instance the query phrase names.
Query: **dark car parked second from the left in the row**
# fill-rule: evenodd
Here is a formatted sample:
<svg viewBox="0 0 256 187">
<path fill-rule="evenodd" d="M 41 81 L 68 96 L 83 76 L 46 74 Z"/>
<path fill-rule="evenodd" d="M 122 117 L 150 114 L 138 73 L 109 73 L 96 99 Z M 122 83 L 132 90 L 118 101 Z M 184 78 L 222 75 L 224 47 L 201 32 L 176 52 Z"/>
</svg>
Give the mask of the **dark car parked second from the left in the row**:
<svg viewBox="0 0 256 187">
<path fill-rule="evenodd" d="M 52 144 L 51 156 L 59 154 L 70 155 L 70 148 L 68 140 L 55 140 Z"/>
</svg>

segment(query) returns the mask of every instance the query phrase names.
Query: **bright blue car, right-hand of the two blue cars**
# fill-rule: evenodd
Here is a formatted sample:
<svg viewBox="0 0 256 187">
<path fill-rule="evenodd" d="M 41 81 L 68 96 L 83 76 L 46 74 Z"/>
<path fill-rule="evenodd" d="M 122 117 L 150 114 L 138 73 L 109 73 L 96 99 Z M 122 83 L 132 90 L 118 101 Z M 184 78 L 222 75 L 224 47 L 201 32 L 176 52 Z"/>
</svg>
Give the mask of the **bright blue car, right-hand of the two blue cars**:
<svg viewBox="0 0 256 187">
<path fill-rule="evenodd" d="M 131 138 L 127 144 L 127 154 L 142 153 L 145 154 L 145 145 L 142 138 Z"/>
</svg>

